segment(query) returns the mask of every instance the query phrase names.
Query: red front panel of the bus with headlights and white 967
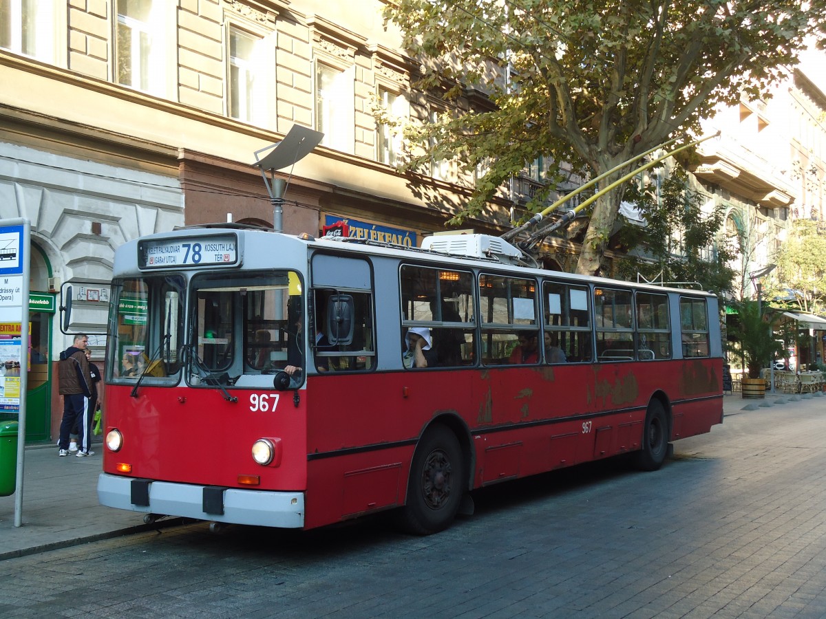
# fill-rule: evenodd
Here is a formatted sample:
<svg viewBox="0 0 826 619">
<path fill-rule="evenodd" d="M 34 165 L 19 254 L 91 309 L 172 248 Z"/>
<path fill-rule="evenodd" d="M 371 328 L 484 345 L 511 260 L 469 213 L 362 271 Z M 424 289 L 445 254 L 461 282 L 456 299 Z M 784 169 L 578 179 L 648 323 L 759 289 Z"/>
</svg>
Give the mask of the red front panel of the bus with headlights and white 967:
<svg viewBox="0 0 826 619">
<path fill-rule="evenodd" d="M 249 488 L 239 475 L 259 475 L 254 489 L 302 490 L 306 487 L 304 404 L 291 393 L 232 390 L 237 403 L 215 389 L 107 385 L 106 432 L 117 428 L 123 447 L 104 449 L 103 470 L 123 475 L 117 463 L 132 465 L 129 476 L 183 484 Z M 253 405 L 250 396 L 255 394 Z M 268 403 L 261 410 L 262 401 Z M 261 466 L 251 456 L 262 437 L 280 439 L 281 461 Z"/>
</svg>

